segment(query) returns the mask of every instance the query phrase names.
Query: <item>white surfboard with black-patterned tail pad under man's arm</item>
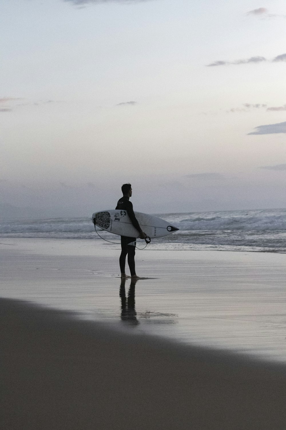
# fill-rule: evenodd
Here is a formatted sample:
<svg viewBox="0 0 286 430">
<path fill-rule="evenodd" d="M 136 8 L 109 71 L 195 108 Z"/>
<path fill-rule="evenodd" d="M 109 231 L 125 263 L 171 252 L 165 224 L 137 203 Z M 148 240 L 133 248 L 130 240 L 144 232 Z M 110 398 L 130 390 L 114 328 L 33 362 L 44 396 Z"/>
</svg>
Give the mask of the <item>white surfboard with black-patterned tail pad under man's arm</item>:
<svg viewBox="0 0 286 430">
<path fill-rule="evenodd" d="M 142 212 L 134 213 L 141 229 L 150 238 L 167 236 L 179 230 L 162 218 Z M 138 230 L 133 226 L 125 210 L 108 209 L 101 212 L 94 212 L 92 221 L 95 226 L 102 228 L 102 230 L 109 231 L 110 233 L 129 237 L 139 236 Z"/>
</svg>

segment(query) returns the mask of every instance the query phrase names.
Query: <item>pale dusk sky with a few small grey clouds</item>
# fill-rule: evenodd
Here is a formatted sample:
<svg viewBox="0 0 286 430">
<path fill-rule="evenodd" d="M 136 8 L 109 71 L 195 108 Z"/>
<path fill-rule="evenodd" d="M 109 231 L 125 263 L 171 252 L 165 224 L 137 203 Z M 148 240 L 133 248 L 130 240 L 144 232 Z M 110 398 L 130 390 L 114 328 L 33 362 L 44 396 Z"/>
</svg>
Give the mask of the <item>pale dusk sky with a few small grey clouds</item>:
<svg viewBox="0 0 286 430">
<path fill-rule="evenodd" d="M 285 28 L 282 0 L 2 0 L 0 210 L 285 208 Z"/>
</svg>

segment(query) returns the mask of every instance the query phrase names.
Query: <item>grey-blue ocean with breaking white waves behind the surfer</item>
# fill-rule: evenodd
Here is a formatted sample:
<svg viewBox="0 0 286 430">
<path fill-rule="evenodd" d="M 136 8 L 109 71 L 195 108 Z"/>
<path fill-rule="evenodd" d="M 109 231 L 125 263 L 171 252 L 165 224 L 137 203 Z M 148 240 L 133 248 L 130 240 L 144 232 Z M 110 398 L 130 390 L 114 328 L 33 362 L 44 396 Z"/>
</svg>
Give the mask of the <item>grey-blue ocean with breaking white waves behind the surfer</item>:
<svg viewBox="0 0 286 430">
<path fill-rule="evenodd" d="M 180 230 L 153 239 L 148 249 L 220 250 L 286 253 L 286 209 L 161 213 Z M 98 231 L 90 218 L 48 218 L 0 222 L 0 238 L 89 239 L 119 243 L 118 236 Z M 110 242 L 105 242 L 110 244 Z M 145 242 L 138 240 L 138 248 Z"/>
</svg>

